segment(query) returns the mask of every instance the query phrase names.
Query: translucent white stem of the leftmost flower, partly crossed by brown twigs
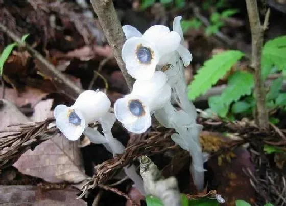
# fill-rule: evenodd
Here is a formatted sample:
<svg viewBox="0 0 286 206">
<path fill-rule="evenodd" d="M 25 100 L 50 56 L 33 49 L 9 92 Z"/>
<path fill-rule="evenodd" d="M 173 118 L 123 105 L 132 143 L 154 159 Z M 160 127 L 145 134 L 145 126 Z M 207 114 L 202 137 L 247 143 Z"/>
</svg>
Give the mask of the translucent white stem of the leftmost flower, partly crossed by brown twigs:
<svg viewBox="0 0 286 206">
<path fill-rule="evenodd" d="M 125 147 L 123 144 L 113 137 L 111 133 L 111 128 L 115 122 L 115 117 L 113 113 L 108 113 L 105 117 L 100 118 L 99 122 L 101 123 L 104 136 L 99 133 L 98 130 L 93 130 L 93 133 L 90 129 L 85 129 L 84 134 L 88 136 L 91 142 L 99 143 L 99 141 L 94 140 L 102 140 L 105 139 L 103 145 L 105 148 L 115 156 L 116 154 L 122 154 L 124 152 Z M 86 132 L 88 130 L 88 133 Z M 126 175 L 134 182 L 136 188 L 140 191 L 142 195 L 145 195 L 144 184 L 142 178 L 137 174 L 136 168 L 134 165 L 124 167 L 124 171 Z"/>
</svg>

